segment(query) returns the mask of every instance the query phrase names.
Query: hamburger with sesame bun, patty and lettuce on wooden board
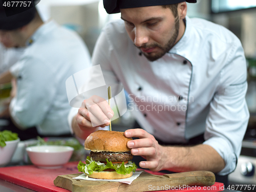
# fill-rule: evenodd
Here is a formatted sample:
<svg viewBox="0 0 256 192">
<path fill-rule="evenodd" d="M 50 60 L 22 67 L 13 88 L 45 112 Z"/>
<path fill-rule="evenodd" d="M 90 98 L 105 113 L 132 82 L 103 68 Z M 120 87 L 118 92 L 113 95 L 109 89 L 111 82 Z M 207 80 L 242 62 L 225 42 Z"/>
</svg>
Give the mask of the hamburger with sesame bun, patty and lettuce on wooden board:
<svg viewBox="0 0 256 192">
<path fill-rule="evenodd" d="M 126 143 L 132 138 L 119 131 L 95 131 L 84 141 L 84 149 L 91 150 L 86 164 L 79 162 L 78 171 L 96 179 L 124 179 L 133 175 L 137 166 Z"/>
</svg>

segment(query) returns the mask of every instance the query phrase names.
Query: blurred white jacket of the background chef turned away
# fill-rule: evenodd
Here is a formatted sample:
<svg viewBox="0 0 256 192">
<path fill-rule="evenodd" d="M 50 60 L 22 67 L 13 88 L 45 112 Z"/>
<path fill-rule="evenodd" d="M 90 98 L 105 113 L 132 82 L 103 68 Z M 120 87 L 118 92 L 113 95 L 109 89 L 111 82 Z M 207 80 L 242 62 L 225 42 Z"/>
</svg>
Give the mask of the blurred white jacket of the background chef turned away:
<svg viewBox="0 0 256 192">
<path fill-rule="evenodd" d="M 75 32 L 53 20 L 40 26 L 27 44 L 23 57 L 10 69 L 17 78 L 11 116 L 24 128 L 36 126 L 42 135 L 69 134 L 71 107 L 65 82 L 91 65 L 89 51 Z"/>
</svg>

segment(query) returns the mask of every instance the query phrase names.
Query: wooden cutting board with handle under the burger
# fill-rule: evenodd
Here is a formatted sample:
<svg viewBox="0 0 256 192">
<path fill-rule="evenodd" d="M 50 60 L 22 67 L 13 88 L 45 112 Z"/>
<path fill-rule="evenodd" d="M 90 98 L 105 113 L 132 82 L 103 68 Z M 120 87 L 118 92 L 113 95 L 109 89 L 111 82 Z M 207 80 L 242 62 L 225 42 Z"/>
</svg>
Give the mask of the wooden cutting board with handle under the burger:
<svg viewBox="0 0 256 192">
<path fill-rule="evenodd" d="M 215 184 L 215 175 L 206 171 L 184 172 L 166 175 L 153 175 L 147 172 L 142 172 L 140 176 L 130 185 L 120 182 L 72 179 L 79 175 L 80 174 L 70 174 L 58 176 L 54 180 L 54 185 L 68 189 L 72 192 L 140 192 L 155 191 L 157 189 L 166 190 L 166 187 L 172 189 L 172 187 L 180 187 L 183 185 L 211 186 Z M 195 189 L 193 191 L 195 191 Z M 221 191 L 221 187 L 216 187 L 216 190 L 208 191 Z"/>
</svg>

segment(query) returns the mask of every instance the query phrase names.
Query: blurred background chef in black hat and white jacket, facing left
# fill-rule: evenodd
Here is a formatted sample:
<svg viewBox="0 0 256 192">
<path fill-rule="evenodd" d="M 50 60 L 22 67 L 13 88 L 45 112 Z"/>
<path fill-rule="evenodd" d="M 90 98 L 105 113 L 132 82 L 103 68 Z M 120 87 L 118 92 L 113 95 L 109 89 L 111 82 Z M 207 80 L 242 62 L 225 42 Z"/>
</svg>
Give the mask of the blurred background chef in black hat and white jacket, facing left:
<svg viewBox="0 0 256 192">
<path fill-rule="evenodd" d="M 41 136 L 70 135 L 65 82 L 90 66 L 83 40 L 54 20 L 43 22 L 35 7 L 7 16 L 2 5 L 0 40 L 6 47 L 25 49 L 9 70 L 15 78 L 9 107 L 14 124 L 22 130 L 36 127 Z"/>
</svg>

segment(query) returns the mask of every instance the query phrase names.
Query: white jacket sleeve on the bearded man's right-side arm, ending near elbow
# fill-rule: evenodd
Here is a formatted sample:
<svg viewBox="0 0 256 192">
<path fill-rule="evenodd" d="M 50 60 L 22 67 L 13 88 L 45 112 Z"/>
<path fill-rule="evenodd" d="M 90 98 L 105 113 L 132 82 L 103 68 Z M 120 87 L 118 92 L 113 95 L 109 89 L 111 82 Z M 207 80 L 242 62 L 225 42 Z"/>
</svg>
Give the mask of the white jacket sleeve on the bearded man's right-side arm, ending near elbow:
<svg viewBox="0 0 256 192">
<path fill-rule="evenodd" d="M 244 51 L 240 42 L 236 42 L 230 47 L 225 67 L 221 70 L 218 90 L 206 119 L 204 144 L 214 148 L 225 161 L 225 167 L 218 175 L 233 172 L 241 152 L 249 119 L 246 79 Z"/>
</svg>

